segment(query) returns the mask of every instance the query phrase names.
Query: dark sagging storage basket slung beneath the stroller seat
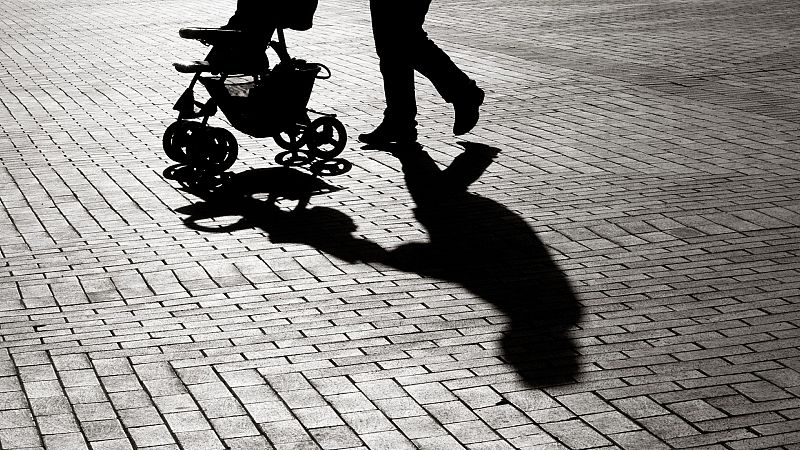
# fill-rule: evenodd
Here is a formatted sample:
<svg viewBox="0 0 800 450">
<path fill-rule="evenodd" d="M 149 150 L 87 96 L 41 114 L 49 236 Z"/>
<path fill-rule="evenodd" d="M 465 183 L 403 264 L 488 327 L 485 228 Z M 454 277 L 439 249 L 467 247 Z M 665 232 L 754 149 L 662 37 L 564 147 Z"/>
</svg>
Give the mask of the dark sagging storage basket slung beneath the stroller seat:
<svg viewBox="0 0 800 450">
<path fill-rule="evenodd" d="M 321 68 L 292 60 L 261 76 L 203 77 L 199 81 L 234 128 L 261 138 L 308 121 L 306 105 Z"/>
</svg>

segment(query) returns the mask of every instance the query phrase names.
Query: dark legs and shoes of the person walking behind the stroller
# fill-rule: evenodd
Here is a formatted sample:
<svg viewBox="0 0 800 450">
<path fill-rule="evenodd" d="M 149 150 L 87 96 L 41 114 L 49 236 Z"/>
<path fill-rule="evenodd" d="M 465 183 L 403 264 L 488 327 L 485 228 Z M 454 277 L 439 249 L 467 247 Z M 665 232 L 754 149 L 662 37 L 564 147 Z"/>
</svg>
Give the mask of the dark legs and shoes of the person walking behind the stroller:
<svg viewBox="0 0 800 450">
<path fill-rule="evenodd" d="M 442 98 L 453 104 L 453 134 L 467 133 L 478 122 L 484 92 L 428 38 L 422 26 L 430 4 L 431 0 L 370 0 L 386 109 L 381 124 L 359 136 L 365 144 L 416 141 L 414 71 L 428 78 Z"/>
</svg>

